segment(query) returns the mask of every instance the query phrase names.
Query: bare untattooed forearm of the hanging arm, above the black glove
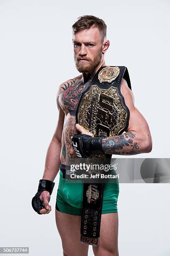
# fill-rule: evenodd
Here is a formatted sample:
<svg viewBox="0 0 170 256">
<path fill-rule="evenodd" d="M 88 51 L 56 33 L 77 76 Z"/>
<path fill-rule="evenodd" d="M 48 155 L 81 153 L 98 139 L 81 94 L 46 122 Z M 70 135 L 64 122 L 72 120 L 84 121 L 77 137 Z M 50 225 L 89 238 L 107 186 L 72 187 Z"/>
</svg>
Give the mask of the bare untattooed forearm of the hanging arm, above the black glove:
<svg viewBox="0 0 170 256">
<path fill-rule="evenodd" d="M 60 169 L 60 152 L 61 142 L 52 138 L 47 150 L 47 156 L 45 159 L 45 169 L 42 179 L 48 179 L 54 181 L 59 169 Z"/>
</svg>

